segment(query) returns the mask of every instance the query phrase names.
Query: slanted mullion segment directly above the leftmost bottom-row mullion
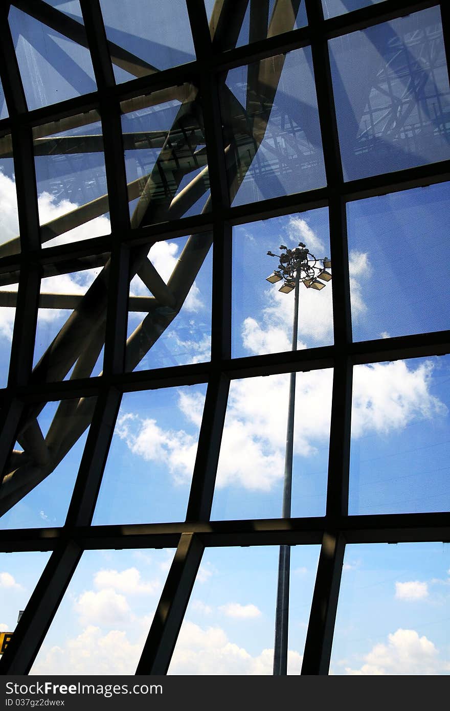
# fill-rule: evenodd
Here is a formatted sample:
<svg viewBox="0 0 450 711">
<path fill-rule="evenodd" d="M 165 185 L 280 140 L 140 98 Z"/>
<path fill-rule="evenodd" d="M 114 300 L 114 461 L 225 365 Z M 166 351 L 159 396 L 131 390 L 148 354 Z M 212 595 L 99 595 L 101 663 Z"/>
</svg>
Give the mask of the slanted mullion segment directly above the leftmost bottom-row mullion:
<svg viewBox="0 0 450 711">
<path fill-rule="evenodd" d="M 121 397 L 114 388 L 98 397 L 65 527 L 88 526 L 92 521 Z"/>
</svg>

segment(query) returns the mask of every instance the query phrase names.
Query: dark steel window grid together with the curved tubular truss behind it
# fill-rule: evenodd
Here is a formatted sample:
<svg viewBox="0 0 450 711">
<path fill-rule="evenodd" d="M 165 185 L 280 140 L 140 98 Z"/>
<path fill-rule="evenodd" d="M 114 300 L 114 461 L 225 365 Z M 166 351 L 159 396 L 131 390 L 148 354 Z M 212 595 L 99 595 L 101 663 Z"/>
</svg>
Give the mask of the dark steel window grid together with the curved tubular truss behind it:
<svg viewBox="0 0 450 711">
<path fill-rule="evenodd" d="M 88 95 L 33 111 L 27 109 L 7 22 L 10 4 L 6 2 L 1 6 L 0 76 L 9 118 L 0 121 L 0 151 L 2 156 L 14 156 L 21 233 L 20 254 L 14 253 L 11 243 L 0 247 L 1 284 L 18 282 L 17 295 L 13 292 L 1 295 L 1 305 L 16 304 L 9 380 L 1 391 L 1 512 L 9 510 L 53 471 L 90 425 L 65 525 L 0 532 L 1 551 L 52 551 L 0 660 L 1 673 L 28 673 L 83 550 L 176 547 L 136 669 L 136 673 L 148 674 L 166 673 L 168 669 L 205 546 L 321 543 L 301 673 L 326 674 L 345 542 L 450 540 L 449 513 L 348 515 L 353 365 L 449 353 L 450 332 L 353 343 L 345 203 L 448 180 L 450 161 L 345 182 L 327 47 L 331 38 L 439 6 L 448 61 L 450 7 L 444 1 L 385 0 L 324 20 L 321 5 L 316 0 L 305 0 L 305 3 L 309 25 L 293 30 L 300 0 L 277 0 L 270 18 L 268 0 L 216 0 L 210 26 L 203 0 L 186 0 L 196 60 L 158 71 L 107 41 L 98 0 L 80 0 L 84 24 L 41 0 L 16 0 L 12 3 L 14 6 L 90 49 L 98 87 Z M 250 6 L 251 43 L 236 47 L 247 6 Z M 433 38 L 422 41 L 432 42 Z M 327 185 L 232 207 L 237 189 L 264 138 L 285 53 L 306 46 L 312 50 Z M 116 85 L 112 63 L 136 78 Z M 223 75 L 230 68 L 246 63 L 252 63 L 257 70 L 249 73 L 247 106 L 242 107 L 227 95 Z M 368 93 L 370 89 L 368 87 Z M 260 102 L 257 112 L 250 110 L 255 106 L 255 96 Z M 147 145 L 161 148 L 159 159 L 144 181 L 127 186 L 124 148 L 133 149 L 143 137 L 122 135 L 120 117 L 124 110 L 141 106 L 141 97 L 149 102 L 147 105 L 178 98 L 181 107 L 166 134 L 144 137 Z M 366 110 L 369 109 L 361 107 L 361 112 Z M 56 224 L 40 227 L 35 154 L 70 153 L 75 149 L 74 141 L 53 136 L 56 127 L 80 127 L 83 120 L 93 122 L 93 117 L 97 119 L 99 114 L 102 137 L 87 137 L 85 150 L 92 150 L 95 141 L 98 147 L 101 140 L 105 151 L 107 196 L 105 193 L 100 201 L 87 203 L 58 218 L 59 221 L 54 221 Z M 245 130 L 242 116 L 248 119 Z M 443 114 L 441 119 L 441 130 L 448 133 L 448 122 Z M 392 129 L 392 125 L 387 126 L 389 120 L 387 117 L 382 130 Z M 398 112 L 395 120 L 401 120 Z M 223 126 L 234 126 L 235 131 L 223 131 Z M 367 134 L 363 140 L 366 138 Z M 361 150 L 361 146 L 362 143 L 355 146 L 355 152 Z M 282 161 L 275 161 L 274 171 L 281 171 L 283 165 Z M 178 191 L 183 178 L 195 168 L 201 168 L 198 175 L 188 181 L 187 188 Z M 208 199 L 202 213 L 183 217 L 191 205 L 205 195 Z M 129 200 L 134 198 L 139 201 L 130 219 Z M 232 359 L 232 225 L 323 206 L 328 206 L 331 230 L 333 346 Z M 41 248 L 45 240 L 84 224 L 108 209 L 111 235 Z M 187 234 L 191 237 L 183 260 L 178 262 L 166 284 L 147 258 L 149 247 L 156 241 Z M 176 318 L 212 245 L 210 361 L 130 372 Z M 102 267 L 102 271 L 85 296 L 75 299 L 70 294 L 40 295 L 43 275 L 93 266 Z M 146 315 L 127 340 L 129 282 L 134 274 L 139 274 L 153 296 L 142 302 L 141 309 Z M 63 308 L 69 301 L 73 314 L 33 368 L 38 306 Z M 102 375 L 90 378 L 102 347 L 105 348 Z M 73 366 L 70 378 L 63 380 Z M 319 368 L 333 368 L 334 373 L 326 515 L 323 518 L 211 521 L 230 380 Z M 193 383 L 208 383 L 208 387 L 186 520 L 92 526 L 122 392 Z M 36 421 L 43 403 L 48 400 L 61 401 L 49 430 L 51 442 L 49 434 L 43 437 Z M 23 453 L 11 454 L 16 439 Z"/>
</svg>

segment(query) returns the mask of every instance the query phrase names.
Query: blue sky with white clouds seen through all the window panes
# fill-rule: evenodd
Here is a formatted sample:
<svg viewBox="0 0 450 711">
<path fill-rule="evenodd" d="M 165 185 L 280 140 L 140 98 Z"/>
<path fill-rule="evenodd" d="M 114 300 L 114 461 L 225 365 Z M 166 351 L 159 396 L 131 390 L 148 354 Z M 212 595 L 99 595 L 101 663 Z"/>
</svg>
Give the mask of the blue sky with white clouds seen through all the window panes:
<svg viewBox="0 0 450 711">
<path fill-rule="evenodd" d="M 76 2 L 52 4 L 79 16 Z M 207 4 L 207 11 L 210 7 Z M 331 3 L 328 9 L 335 14 L 342 10 Z M 173 36 L 161 38 L 155 33 L 156 22 L 151 27 L 149 22 L 137 27 L 131 20 L 136 15 L 130 12 L 129 25 L 122 26 L 123 15 L 117 14 L 115 3 L 108 4 L 108 11 L 109 38 L 123 40 L 124 46 L 149 63 L 160 59 L 159 67 L 164 68 L 193 58 L 181 14 L 180 26 Z M 427 19 L 431 25 L 436 20 L 434 15 Z M 60 40 L 53 31 L 43 35 L 39 29 L 32 38 L 34 21 L 23 26 L 19 38 L 20 11 L 14 10 L 10 19 L 30 108 L 95 89 L 87 50 Z M 405 18 L 397 21 L 389 31 L 400 31 L 399 23 L 404 21 Z M 246 31 L 244 24 L 240 43 L 246 41 Z M 383 36 L 387 30 L 380 32 Z M 364 36 L 364 41 L 369 35 Z M 164 55 L 159 50 L 162 41 L 170 47 Z M 373 39 L 373 46 L 376 41 Z M 338 69 L 345 85 L 347 64 L 338 51 L 335 54 L 333 78 L 339 92 Z M 382 63 L 379 53 L 371 56 L 375 57 L 374 62 Z M 58 65 L 59 71 L 52 64 Z M 301 91 L 295 81 L 299 71 L 306 77 Z M 116 77 L 119 82 L 129 78 L 123 70 L 116 70 Z M 438 84 L 443 95 L 446 81 L 440 74 Z M 245 82 L 242 68 L 228 77 L 228 85 L 237 97 L 243 95 Z M 341 93 L 338 96 L 342 98 Z M 350 102 L 350 107 L 355 109 L 356 103 Z M 297 113 L 301 113 L 299 107 L 303 105 L 306 118 L 300 143 L 304 146 L 309 141 L 312 145 L 314 129 L 317 132 L 316 99 L 307 50 L 288 55 L 277 105 L 286 110 L 294 106 Z M 173 100 L 151 110 L 129 113 L 123 119 L 124 131 L 168 128 L 178 106 Z M 348 106 L 349 102 L 342 102 L 338 109 L 341 130 Z M 365 109 L 363 106 L 361 111 Z M 277 129 L 277 121 L 274 119 L 271 130 Z M 67 134 L 98 132 L 100 124 L 93 117 L 91 124 Z M 434 135 L 436 143 L 432 144 Z M 437 132 L 433 136 L 427 134 L 424 148 L 427 141 L 430 146 L 439 145 L 439 150 L 444 151 L 441 157 L 445 157 L 445 141 Z M 375 154 L 379 145 L 375 141 Z M 273 147 L 268 144 L 267 150 Z M 411 161 L 408 146 L 403 148 L 405 160 Z M 264 161 L 265 150 L 263 145 L 257 161 Z M 324 184 L 320 147 L 316 157 L 319 167 L 313 176 L 314 186 L 320 186 Z M 145 175 L 155 159 L 152 151 L 129 151 L 129 179 Z M 427 161 L 426 156 L 417 159 L 417 154 L 413 159 Z M 348 177 L 354 176 L 350 173 L 355 164 L 350 161 L 345 165 Z M 392 164 L 392 168 L 396 166 Z M 2 235 L 9 239 L 18 234 L 11 159 L 2 159 L 0 168 Z M 54 156 L 38 156 L 36 175 L 42 224 L 105 191 L 105 161 L 100 152 L 58 156 L 57 161 Z M 286 180 L 271 182 L 259 176 L 258 171 L 249 171 L 236 203 L 305 188 L 295 175 L 285 177 Z M 449 328 L 448 206 L 449 183 L 348 203 L 355 341 Z M 195 205 L 193 211 L 198 213 L 202 207 L 203 203 Z M 109 229 L 105 209 L 95 220 L 52 243 L 107 235 Z M 326 208 L 233 228 L 233 357 L 289 350 L 294 295 L 280 294 L 277 285 L 265 280 L 277 266 L 267 256 L 267 250 L 277 252 L 281 244 L 294 247 L 302 241 L 318 259 L 329 257 L 329 232 Z M 166 240 L 150 250 L 149 259 L 164 280 L 173 272 L 187 240 L 188 237 Z M 180 314 L 136 369 L 208 360 L 211 264 L 212 250 L 205 257 Z M 96 273 L 85 270 L 51 277 L 43 281 L 42 290 L 83 294 Z M 302 287 L 297 348 L 333 343 L 332 289 L 333 281 L 321 292 Z M 150 296 L 150 292 L 136 277 L 130 295 Z M 69 313 L 39 310 L 35 362 Z M 128 334 L 142 318 L 142 313 L 130 312 Z M 13 324 L 14 309 L 2 308 L 0 385 L 6 384 Z M 94 375 L 101 369 L 100 357 Z M 353 382 L 350 513 L 449 510 L 449 356 L 358 365 Z M 280 515 L 288 383 L 289 375 L 232 381 L 213 519 Z M 325 512 L 332 383 L 331 370 L 299 373 L 296 379 L 294 516 L 320 516 Z M 205 387 L 200 384 L 124 395 L 95 524 L 185 518 Z M 56 407 L 57 403 L 48 403 L 38 418 L 44 434 Z M 87 432 L 53 474 L 4 516 L 4 528 L 63 525 L 86 436 Z M 318 552 L 318 546 L 297 546 L 291 551 L 289 673 L 299 673 L 301 665 Z M 33 671 L 133 673 L 172 556 L 173 550 L 85 552 Z M 277 547 L 205 551 L 171 673 L 271 673 L 277 557 Z M 1 554 L 1 629 L 14 630 L 18 610 L 25 606 L 46 560 L 45 553 Z M 449 673 L 449 618 L 445 614 L 449 584 L 447 544 L 349 545 L 331 672 Z"/>
</svg>

